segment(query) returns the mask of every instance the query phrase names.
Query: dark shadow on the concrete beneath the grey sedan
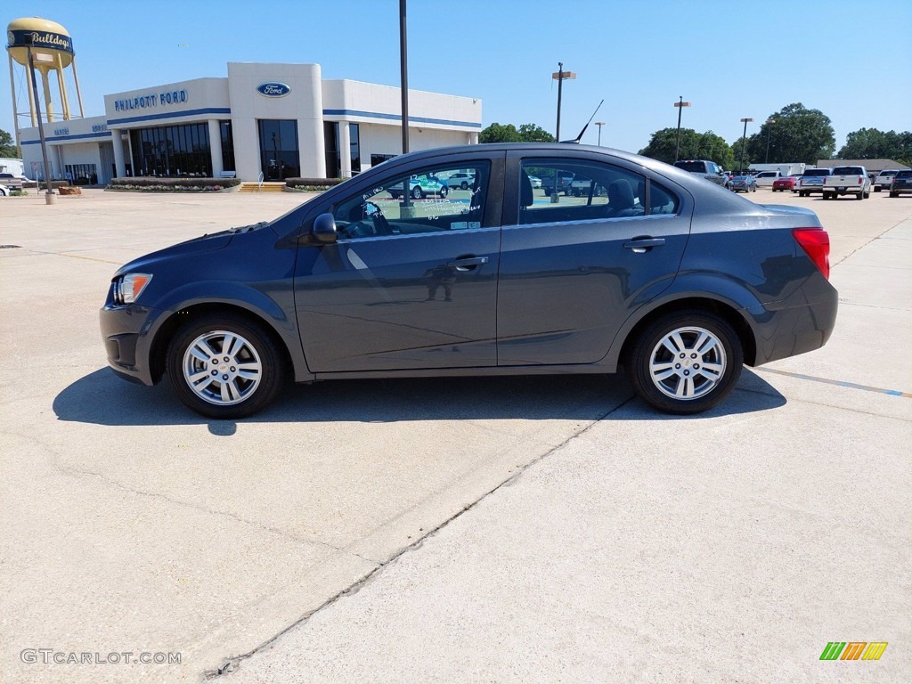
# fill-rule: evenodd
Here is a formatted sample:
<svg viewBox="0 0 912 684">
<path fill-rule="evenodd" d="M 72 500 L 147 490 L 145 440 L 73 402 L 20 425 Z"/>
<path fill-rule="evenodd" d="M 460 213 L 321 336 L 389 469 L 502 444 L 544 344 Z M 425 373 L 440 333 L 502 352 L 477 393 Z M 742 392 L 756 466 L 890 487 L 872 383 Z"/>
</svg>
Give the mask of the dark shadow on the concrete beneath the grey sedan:
<svg viewBox="0 0 912 684">
<path fill-rule="evenodd" d="M 699 418 L 775 409 L 785 399 L 744 368 L 737 389 Z M 621 411 L 617 411 L 623 407 Z M 186 409 L 167 380 L 149 388 L 100 368 L 54 399 L 57 420 L 98 425 L 208 425 L 231 436 L 233 420 L 212 420 Z M 502 378 L 396 378 L 289 384 L 274 404 L 244 422 L 397 422 L 404 420 L 674 419 L 648 407 L 622 375 Z"/>
</svg>

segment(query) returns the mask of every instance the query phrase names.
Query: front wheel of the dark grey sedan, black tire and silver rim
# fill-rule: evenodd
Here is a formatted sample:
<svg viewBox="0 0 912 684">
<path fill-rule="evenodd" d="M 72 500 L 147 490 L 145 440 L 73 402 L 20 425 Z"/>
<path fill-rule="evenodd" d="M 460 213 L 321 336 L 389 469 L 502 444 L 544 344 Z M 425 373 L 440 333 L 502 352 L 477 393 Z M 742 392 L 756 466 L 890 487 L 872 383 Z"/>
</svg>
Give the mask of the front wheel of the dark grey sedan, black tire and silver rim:
<svg viewBox="0 0 912 684">
<path fill-rule="evenodd" d="M 213 358 L 204 360 L 192 349 L 212 352 Z M 183 326 L 171 338 L 167 369 L 185 406 L 221 420 L 254 415 L 275 399 L 285 381 L 285 360 L 272 338 L 262 326 L 233 314 L 203 316 Z M 196 389 L 193 376 L 201 377 Z"/>
</svg>

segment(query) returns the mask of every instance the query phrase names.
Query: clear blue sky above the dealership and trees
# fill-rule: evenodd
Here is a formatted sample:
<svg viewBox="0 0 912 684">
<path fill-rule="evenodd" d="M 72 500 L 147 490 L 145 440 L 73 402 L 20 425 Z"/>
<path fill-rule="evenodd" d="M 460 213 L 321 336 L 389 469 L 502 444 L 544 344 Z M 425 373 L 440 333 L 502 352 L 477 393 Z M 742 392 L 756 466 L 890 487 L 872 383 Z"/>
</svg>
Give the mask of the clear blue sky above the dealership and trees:
<svg viewBox="0 0 912 684">
<path fill-rule="evenodd" d="M 324 78 L 399 85 L 398 0 L 2 6 L 4 25 L 38 14 L 67 27 L 87 116 L 104 113 L 106 93 L 223 77 L 229 61 L 316 62 Z M 561 137 L 575 137 L 605 98 L 602 144 L 622 150 L 677 125 L 679 95 L 693 103 L 682 126 L 730 143 L 742 117 L 756 119 L 750 135 L 792 102 L 833 120 L 837 149 L 862 127 L 912 130 L 908 0 L 409 0 L 408 14 L 409 87 L 482 98 L 485 126 L 554 132 L 551 73 L 563 61 L 578 78 L 565 81 Z M 824 75 L 826 64 L 835 68 Z M 0 129 L 12 132 L 3 71 Z M 596 136 L 592 126 L 584 142 Z"/>
</svg>

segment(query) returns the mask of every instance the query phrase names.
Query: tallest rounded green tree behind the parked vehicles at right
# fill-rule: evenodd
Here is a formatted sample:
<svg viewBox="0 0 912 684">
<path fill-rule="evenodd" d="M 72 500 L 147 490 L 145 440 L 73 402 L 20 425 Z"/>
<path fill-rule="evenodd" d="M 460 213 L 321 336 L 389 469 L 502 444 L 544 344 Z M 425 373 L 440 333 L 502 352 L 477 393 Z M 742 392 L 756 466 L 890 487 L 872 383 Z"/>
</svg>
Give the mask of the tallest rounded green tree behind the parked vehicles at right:
<svg viewBox="0 0 912 684">
<path fill-rule="evenodd" d="M 836 139 L 830 118 L 820 109 L 807 109 L 793 102 L 772 113 L 761 124 L 760 131 L 747 140 L 751 160 L 766 161 L 769 145 L 770 163 L 803 161 L 815 164 L 829 159 L 836 149 Z"/>
</svg>

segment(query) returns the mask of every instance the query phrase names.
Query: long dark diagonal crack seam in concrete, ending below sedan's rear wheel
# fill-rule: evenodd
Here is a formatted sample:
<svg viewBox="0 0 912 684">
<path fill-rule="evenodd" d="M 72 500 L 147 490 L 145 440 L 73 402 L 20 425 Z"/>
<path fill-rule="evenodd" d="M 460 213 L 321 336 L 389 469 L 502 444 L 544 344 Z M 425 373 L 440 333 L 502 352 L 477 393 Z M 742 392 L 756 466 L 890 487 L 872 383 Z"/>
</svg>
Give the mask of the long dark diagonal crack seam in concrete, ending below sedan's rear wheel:
<svg viewBox="0 0 912 684">
<path fill-rule="evenodd" d="M 546 459 L 548 456 L 553 454 L 555 451 L 559 451 L 559 450 L 563 449 L 571 441 L 575 440 L 578 437 L 583 436 L 584 434 L 586 434 L 586 432 L 588 432 L 589 430 L 592 430 L 592 428 L 595 427 L 602 420 L 605 420 L 608 416 L 610 416 L 615 411 L 617 411 L 619 409 L 623 409 L 625 406 L 627 406 L 627 404 L 629 404 L 634 399 L 635 399 L 634 395 L 630 395 L 629 397 L 627 397 L 627 399 L 624 399 L 623 401 L 618 403 L 617 406 L 615 406 L 613 409 L 606 411 L 604 414 L 602 414 L 601 416 L 596 418 L 596 420 L 590 421 L 581 430 L 574 432 L 572 435 L 570 435 L 565 440 L 563 440 L 560 444 L 555 445 L 554 447 L 550 448 L 548 451 L 545 451 L 543 454 L 537 456 L 533 461 L 529 461 L 528 463 L 523 465 L 523 467 L 521 467 L 517 472 L 514 472 L 506 480 L 495 485 L 488 492 L 482 493 L 482 495 L 479 496 L 472 503 L 468 503 L 468 504 L 462 506 L 459 511 L 457 511 L 456 513 L 453 513 L 449 518 L 447 518 L 442 523 L 440 523 L 439 525 L 434 527 L 432 530 L 429 530 L 426 534 L 423 534 L 422 536 L 420 536 L 418 539 L 416 539 L 414 542 L 412 542 L 408 546 L 404 546 L 403 548 L 399 549 L 398 553 L 390 556 L 389 559 L 387 559 L 386 561 L 379 563 L 379 565 L 377 565 L 377 567 L 372 569 L 367 574 L 363 575 L 356 582 L 353 582 L 346 588 L 337 592 L 335 595 L 330 596 L 321 605 L 316 606 L 316 608 L 314 608 L 313 610 L 306 612 L 303 616 L 301 616 L 300 618 L 295 620 L 295 622 L 288 625 L 288 627 L 285 627 L 285 629 L 283 629 L 282 631 L 273 635 L 272 637 L 269 637 L 256 648 L 253 648 L 253 649 L 247 651 L 246 653 L 242 653 L 237 656 L 224 658 L 222 665 L 220 665 L 219 667 L 204 670 L 202 672 L 203 679 L 216 679 L 219 677 L 223 677 L 224 675 L 231 674 L 240 666 L 240 664 L 244 660 L 246 660 L 248 658 L 252 658 L 254 655 L 259 653 L 264 648 L 267 648 L 271 644 L 275 643 L 276 640 L 283 637 L 285 634 L 290 632 L 292 629 L 295 629 L 295 627 L 301 627 L 301 626 L 305 625 L 306 622 L 311 617 L 316 615 L 316 613 L 322 611 L 324 608 L 326 608 L 328 606 L 332 606 L 333 604 L 337 603 L 337 601 L 341 600 L 342 598 L 345 598 L 346 596 L 354 596 L 355 594 L 358 594 L 358 592 L 361 589 L 363 589 L 365 586 L 368 586 L 368 584 L 370 584 L 370 582 L 372 582 L 375 579 L 375 576 L 378 575 L 381 570 L 383 570 L 385 567 L 387 567 L 387 565 L 395 563 L 396 561 L 399 560 L 399 558 L 401 558 L 403 555 L 409 553 L 410 551 L 416 551 L 416 550 L 420 549 L 421 546 L 424 545 L 425 541 L 427 541 L 431 537 L 439 534 L 445 527 L 447 527 L 454 520 L 456 520 L 457 518 L 460 518 L 464 513 L 468 513 L 469 511 L 472 511 L 473 508 L 475 508 L 479 503 L 482 503 L 482 501 L 487 499 L 494 492 L 497 492 L 498 490 L 500 490 L 503 487 L 508 487 L 511 484 L 513 484 L 514 482 L 516 482 L 517 480 L 519 480 L 519 478 L 525 472 L 527 472 L 530 468 L 532 468 L 536 463 L 544 461 L 544 459 Z"/>
</svg>

